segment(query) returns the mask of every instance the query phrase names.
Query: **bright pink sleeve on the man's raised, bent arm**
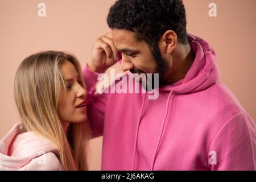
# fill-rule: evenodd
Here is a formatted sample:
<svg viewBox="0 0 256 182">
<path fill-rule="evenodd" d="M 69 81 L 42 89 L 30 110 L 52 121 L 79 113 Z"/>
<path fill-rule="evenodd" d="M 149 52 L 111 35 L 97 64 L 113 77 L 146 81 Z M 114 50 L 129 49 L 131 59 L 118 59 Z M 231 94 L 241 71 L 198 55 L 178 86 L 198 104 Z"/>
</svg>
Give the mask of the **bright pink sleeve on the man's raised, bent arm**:
<svg viewBox="0 0 256 182">
<path fill-rule="evenodd" d="M 99 74 L 91 71 L 88 66 L 82 70 L 88 92 L 86 100 L 89 102 L 87 114 L 92 129 L 92 137 L 98 137 L 103 133 L 105 105 L 107 94 L 95 94 Z"/>
</svg>

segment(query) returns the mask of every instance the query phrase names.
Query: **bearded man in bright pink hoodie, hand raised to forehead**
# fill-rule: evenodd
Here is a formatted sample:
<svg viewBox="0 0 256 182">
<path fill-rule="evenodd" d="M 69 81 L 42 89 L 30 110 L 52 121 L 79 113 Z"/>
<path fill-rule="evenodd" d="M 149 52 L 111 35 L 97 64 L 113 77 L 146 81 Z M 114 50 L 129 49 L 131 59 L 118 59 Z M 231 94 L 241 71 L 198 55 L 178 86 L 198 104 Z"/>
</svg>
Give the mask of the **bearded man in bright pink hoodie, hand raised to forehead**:
<svg viewBox="0 0 256 182">
<path fill-rule="evenodd" d="M 83 70 L 93 137 L 104 136 L 103 170 L 256 169 L 255 123 L 219 81 L 212 47 L 186 24 L 180 0 L 119 0 L 110 8 L 112 32 L 96 40 Z M 157 99 L 94 94 L 119 51 L 122 71 L 159 73 Z"/>
</svg>

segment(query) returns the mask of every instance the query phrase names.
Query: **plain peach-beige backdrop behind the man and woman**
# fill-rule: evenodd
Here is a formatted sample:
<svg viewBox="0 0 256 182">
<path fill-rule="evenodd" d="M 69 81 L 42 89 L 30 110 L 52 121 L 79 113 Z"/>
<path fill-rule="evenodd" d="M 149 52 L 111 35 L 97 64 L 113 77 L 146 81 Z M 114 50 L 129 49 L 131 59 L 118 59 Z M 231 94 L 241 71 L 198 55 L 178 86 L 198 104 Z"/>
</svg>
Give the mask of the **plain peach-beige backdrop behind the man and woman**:
<svg viewBox="0 0 256 182">
<path fill-rule="evenodd" d="M 19 122 L 13 97 L 16 69 L 24 57 L 55 49 L 74 53 L 82 67 L 94 40 L 109 31 L 106 15 L 115 0 L 0 0 L 0 138 Z M 38 3 L 46 17 L 38 17 Z M 208 15 L 217 4 L 217 17 Z M 255 0 L 184 0 L 188 32 L 206 39 L 219 57 L 221 80 L 256 120 Z M 115 65 L 117 72 L 121 69 Z M 90 169 L 101 168 L 102 137 L 91 141 Z"/>
</svg>

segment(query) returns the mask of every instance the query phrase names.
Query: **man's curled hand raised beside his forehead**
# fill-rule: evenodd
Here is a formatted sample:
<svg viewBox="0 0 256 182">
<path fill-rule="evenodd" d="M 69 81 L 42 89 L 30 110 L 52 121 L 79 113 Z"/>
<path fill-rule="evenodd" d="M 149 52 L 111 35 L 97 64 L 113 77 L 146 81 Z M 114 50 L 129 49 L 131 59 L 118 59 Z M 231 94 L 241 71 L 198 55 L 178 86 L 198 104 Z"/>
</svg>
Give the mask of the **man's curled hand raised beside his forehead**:
<svg viewBox="0 0 256 182">
<path fill-rule="evenodd" d="M 112 35 L 109 33 L 100 36 L 94 43 L 92 60 L 88 63 L 88 67 L 94 72 L 104 73 L 118 60 L 119 52 L 114 47 Z"/>
</svg>

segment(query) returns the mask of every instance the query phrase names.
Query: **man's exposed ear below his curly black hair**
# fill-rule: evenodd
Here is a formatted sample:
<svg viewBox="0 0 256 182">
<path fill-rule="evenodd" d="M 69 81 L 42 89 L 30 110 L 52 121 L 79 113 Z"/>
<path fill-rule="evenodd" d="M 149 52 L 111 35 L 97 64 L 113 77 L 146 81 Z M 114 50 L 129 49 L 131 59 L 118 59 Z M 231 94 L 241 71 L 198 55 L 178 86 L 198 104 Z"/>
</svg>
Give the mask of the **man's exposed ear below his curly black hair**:
<svg viewBox="0 0 256 182">
<path fill-rule="evenodd" d="M 177 46 L 177 34 L 172 30 L 164 32 L 159 42 L 161 52 L 172 53 Z"/>
</svg>

